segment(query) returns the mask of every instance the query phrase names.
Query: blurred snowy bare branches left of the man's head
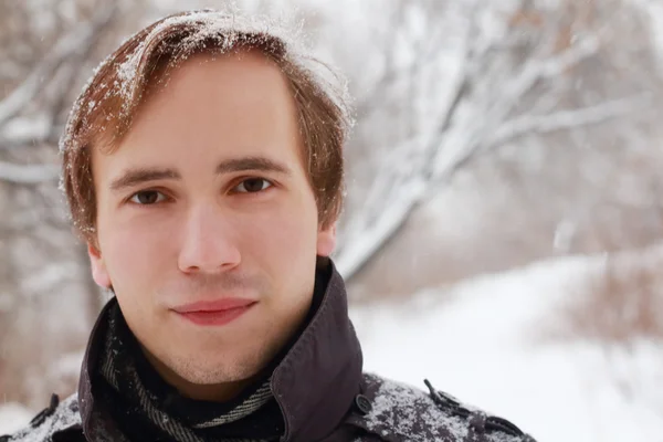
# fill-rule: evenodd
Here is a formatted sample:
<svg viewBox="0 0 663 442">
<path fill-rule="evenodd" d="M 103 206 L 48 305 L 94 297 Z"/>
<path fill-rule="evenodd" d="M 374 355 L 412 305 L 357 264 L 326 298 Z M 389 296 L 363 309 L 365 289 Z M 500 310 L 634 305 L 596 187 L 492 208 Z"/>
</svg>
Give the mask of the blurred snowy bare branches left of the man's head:
<svg viewBox="0 0 663 442">
<path fill-rule="evenodd" d="M 57 189 L 57 139 L 123 9 L 93 0 L 41 2 L 39 11 L 0 3 L 0 390 L 8 400 L 40 407 L 55 381 L 46 367 L 83 345 L 99 309 Z M 65 309 L 77 320 L 64 320 Z"/>
</svg>

